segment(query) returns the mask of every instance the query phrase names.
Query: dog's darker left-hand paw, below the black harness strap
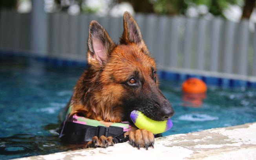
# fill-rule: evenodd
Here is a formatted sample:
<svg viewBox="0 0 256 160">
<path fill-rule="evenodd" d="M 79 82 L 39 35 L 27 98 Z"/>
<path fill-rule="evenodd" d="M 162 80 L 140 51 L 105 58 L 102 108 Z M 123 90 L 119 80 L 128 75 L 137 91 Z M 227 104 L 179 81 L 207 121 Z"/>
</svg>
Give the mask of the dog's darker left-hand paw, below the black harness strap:
<svg viewBox="0 0 256 160">
<path fill-rule="evenodd" d="M 101 136 L 100 138 L 98 138 L 97 136 L 94 136 L 92 138 L 92 141 L 88 142 L 88 144 L 86 145 L 86 148 L 96 148 L 96 147 L 103 147 L 106 148 L 108 146 L 112 146 L 114 145 L 113 142 L 113 137 L 110 136 L 108 138 L 106 138 L 105 136 Z"/>
</svg>

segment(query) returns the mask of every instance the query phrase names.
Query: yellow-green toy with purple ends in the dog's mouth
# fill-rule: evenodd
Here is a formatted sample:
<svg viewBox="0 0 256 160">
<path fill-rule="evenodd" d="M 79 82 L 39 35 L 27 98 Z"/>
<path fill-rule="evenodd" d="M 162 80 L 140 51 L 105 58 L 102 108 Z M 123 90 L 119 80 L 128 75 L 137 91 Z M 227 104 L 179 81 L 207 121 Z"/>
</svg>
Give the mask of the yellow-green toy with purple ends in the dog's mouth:
<svg viewBox="0 0 256 160">
<path fill-rule="evenodd" d="M 146 129 L 153 134 L 163 133 L 172 128 L 172 121 L 170 119 L 164 121 L 155 121 L 145 116 L 141 111 L 134 110 L 130 114 L 132 122 L 139 129 Z"/>
</svg>

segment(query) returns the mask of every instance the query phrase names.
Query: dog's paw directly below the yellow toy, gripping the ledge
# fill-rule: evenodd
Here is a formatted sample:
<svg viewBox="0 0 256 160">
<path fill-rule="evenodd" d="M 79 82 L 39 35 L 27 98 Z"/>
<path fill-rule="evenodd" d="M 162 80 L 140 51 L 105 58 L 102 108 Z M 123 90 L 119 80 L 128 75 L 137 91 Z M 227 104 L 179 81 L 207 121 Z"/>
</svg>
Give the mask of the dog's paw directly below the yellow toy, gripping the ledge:
<svg viewBox="0 0 256 160">
<path fill-rule="evenodd" d="M 138 149 L 146 147 L 146 150 L 148 150 L 148 146 L 154 148 L 155 137 L 150 131 L 137 129 L 129 133 L 129 142 L 133 147 L 137 147 Z"/>
</svg>

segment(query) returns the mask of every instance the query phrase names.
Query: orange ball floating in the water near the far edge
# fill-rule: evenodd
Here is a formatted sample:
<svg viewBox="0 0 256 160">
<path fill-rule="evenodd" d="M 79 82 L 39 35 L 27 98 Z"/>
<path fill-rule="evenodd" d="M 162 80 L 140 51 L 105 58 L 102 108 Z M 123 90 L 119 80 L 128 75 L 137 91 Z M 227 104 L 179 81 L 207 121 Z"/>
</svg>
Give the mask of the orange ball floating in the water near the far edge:
<svg viewBox="0 0 256 160">
<path fill-rule="evenodd" d="M 182 91 L 186 93 L 205 93 L 207 86 L 198 78 L 189 78 L 182 84 Z"/>
</svg>

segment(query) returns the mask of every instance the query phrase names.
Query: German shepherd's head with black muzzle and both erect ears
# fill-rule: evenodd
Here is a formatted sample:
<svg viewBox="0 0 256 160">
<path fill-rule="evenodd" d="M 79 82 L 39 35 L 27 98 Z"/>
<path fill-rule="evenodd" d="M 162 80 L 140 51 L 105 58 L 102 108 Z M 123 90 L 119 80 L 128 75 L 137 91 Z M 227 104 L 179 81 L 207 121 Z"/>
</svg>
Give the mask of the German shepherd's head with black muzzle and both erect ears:
<svg viewBox="0 0 256 160">
<path fill-rule="evenodd" d="M 129 120 L 131 111 L 139 110 L 157 121 L 174 115 L 158 88 L 155 61 L 130 13 L 124 13 L 124 31 L 118 45 L 98 22 L 92 21 L 87 56 L 95 77 L 92 80 L 99 86 L 95 101 L 106 114 L 120 112 L 121 120 Z"/>
</svg>

